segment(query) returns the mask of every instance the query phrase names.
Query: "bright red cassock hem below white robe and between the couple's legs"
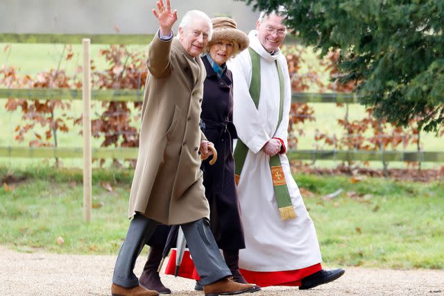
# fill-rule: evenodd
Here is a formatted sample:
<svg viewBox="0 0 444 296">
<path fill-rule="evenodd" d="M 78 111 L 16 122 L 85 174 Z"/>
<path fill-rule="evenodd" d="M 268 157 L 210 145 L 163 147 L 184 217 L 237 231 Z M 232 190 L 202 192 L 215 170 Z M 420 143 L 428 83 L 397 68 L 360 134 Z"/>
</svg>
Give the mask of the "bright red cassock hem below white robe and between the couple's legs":
<svg viewBox="0 0 444 296">
<path fill-rule="evenodd" d="M 259 272 L 240 269 L 241 274 L 244 276 L 248 283 L 253 283 L 261 287 L 266 286 L 300 286 L 300 280 L 304 277 L 314 274 L 322 269 L 321 263 L 311 265 L 306 268 L 298 270 L 284 270 L 284 271 L 271 271 L 271 272 Z M 165 269 L 166 275 L 174 275 L 176 270 L 176 250 L 171 250 L 169 256 L 167 268 Z M 186 250 L 183 254 L 182 263 L 179 268 L 179 277 L 185 277 L 187 279 L 199 280 L 200 277 L 194 268 L 194 263 L 189 256 L 189 251 Z"/>
</svg>

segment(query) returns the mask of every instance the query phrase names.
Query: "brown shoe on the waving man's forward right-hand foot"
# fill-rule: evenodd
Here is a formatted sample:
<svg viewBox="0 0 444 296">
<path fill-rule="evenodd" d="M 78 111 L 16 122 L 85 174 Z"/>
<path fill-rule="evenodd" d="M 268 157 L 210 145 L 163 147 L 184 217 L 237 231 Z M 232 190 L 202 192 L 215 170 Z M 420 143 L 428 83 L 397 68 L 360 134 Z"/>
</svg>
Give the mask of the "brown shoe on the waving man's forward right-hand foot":
<svg viewBox="0 0 444 296">
<path fill-rule="evenodd" d="M 219 279 L 212 284 L 203 286 L 205 296 L 219 296 L 219 295 L 237 295 L 242 293 L 250 293 L 260 290 L 258 286 L 253 284 L 241 284 L 228 277 Z"/>
</svg>

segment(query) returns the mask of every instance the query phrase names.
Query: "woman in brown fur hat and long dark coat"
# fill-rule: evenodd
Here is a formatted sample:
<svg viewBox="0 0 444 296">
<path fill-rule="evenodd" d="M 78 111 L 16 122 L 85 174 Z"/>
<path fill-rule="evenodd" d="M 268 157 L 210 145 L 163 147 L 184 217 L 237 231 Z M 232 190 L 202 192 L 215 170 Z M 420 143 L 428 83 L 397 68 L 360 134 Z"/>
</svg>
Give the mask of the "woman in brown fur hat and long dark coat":
<svg viewBox="0 0 444 296">
<path fill-rule="evenodd" d="M 212 19 L 213 36 L 202 61 L 207 70 L 202 113 L 205 136 L 218 152 L 216 163 L 203 162 L 203 185 L 210 203 L 210 227 L 234 281 L 246 283 L 239 273 L 239 250 L 245 248 L 239 198 L 234 182 L 233 139 L 237 132 L 232 123 L 233 82 L 226 62 L 248 48 L 248 36 L 228 17 Z M 200 288 L 196 283 L 196 288 Z"/>
</svg>

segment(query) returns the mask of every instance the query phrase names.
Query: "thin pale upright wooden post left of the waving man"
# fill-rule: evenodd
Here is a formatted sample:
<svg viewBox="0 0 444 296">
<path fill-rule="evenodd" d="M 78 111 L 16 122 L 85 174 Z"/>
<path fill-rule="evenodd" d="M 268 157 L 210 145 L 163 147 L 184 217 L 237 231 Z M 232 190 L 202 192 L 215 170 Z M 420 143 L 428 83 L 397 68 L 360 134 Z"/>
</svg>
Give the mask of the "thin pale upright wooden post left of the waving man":
<svg viewBox="0 0 444 296">
<path fill-rule="evenodd" d="M 83 218 L 91 221 L 92 168 L 91 168 L 91 64 L 89 39 L 83 39 Z"/>
</svg>

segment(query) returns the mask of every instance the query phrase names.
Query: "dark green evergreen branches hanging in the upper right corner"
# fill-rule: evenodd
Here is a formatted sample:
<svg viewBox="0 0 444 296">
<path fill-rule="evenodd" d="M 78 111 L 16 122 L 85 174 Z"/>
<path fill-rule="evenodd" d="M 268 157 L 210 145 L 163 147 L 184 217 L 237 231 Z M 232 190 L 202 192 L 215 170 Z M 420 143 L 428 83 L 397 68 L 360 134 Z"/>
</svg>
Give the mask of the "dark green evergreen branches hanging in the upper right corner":
<svg viewBox="0 0 444 296">
<path fill-rule="evenodd" d="M 342 82 L 355 81 L 361 103 L 397 125 L 444 121 L 444 2 L 441 0 L 243 0 L 288 10 L 287 24 L 325 55 L 341 49 Z"/>
</svg>

